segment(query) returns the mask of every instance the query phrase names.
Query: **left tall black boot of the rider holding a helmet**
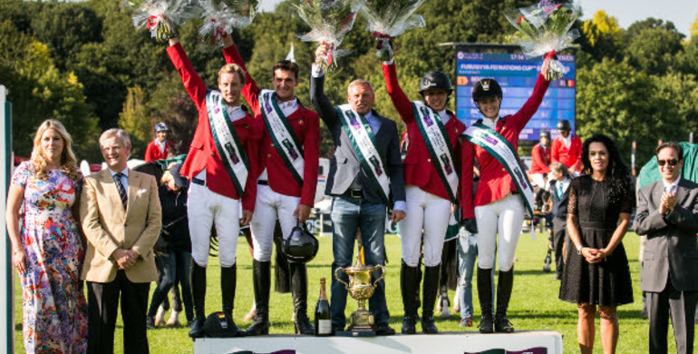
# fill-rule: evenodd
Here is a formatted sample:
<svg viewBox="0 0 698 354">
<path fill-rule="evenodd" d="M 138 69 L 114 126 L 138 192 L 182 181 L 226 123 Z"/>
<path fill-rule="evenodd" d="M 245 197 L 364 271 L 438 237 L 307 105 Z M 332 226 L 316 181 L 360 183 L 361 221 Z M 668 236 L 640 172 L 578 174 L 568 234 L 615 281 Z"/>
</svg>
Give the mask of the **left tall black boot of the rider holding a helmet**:
<svg viewBox="0 0 698 354">
<path fill-rule="evenodd" d="M 245 331 L 246 336 L 269 334 L 269 289 L 271 288 L 271 261 L 252 261 L 252 280 L 255 288 L 255 322 Z"/>
</svg>

